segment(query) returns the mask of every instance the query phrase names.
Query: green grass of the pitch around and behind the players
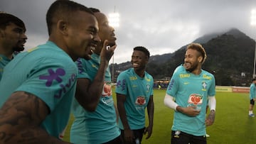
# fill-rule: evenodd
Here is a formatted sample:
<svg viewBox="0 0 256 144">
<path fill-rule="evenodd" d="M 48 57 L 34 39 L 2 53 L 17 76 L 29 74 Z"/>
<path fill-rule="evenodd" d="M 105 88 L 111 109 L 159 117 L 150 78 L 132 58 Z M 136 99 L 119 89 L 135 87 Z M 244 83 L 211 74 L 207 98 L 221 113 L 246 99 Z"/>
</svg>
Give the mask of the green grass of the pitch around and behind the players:
<svg viewBox="0 0 256 144">
<path fill-rule="evenodd" d="M 114 91 L 113 91 L 114 92 Z M 154 129 L 151 138 L 143 139 L 144 144 L 171 143 L 171 126 L 174 111 L 164 106 L 166 90 L 154 90 Z M 217 92 L 215 123 L 206 128 L 210 138 L 208 144 L 254 144 L 256 143 L 256 117 L 248 116 L 248 94 Z M 114 94 L 114 101 L 115 94 Z M 256 113 L 256 108 L 255 108 Z M 64 140 L 69 141 L 70 117 Z M 146 123 L 148 123 L 146 121 Z"/>
</svg>

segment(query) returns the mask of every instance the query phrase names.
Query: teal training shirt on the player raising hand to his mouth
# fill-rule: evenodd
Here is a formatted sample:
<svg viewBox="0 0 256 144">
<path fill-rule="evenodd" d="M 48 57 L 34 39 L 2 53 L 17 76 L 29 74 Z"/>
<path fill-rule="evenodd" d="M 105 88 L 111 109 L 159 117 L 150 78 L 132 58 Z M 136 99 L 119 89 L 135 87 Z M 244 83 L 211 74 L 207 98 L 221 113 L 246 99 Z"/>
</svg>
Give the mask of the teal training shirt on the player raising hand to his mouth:
<svg viewBox="0 0 256 144">
<path fill-rule="evenodd" d="M 76 64 L 78 66 L 78 78 L 90 79 L 92 82 L 100 66 L 100 57 L 99 55 L 92 54 L 91 60 L 79 58 Z M 86 111 L 74 99 L 73 114 L 75 121 L 70 130 L 71 143 L 100 144 L 113 140 L 120 135 L 112 98 L 109 67 L 105 72 L 105 84 L 96 110 L 93 112 Z"/>
</svg>

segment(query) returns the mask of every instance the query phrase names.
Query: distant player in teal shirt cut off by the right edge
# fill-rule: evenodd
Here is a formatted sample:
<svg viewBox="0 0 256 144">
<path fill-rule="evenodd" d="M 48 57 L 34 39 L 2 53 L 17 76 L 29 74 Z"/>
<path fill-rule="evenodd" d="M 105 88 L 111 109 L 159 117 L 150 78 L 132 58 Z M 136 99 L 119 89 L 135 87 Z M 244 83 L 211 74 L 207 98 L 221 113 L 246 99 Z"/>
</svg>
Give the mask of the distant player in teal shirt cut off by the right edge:
<svg viewBox="0 0 256 144">
<path fill-rule="evenodd" d="M 253 106 L 255 105 L 256 101 L 256 79 L 252 79 L 252 84 L 250 85 L 250 106 L 249 106 L 249 116 L 255 117 L 253 114 Z"/>
</svg>

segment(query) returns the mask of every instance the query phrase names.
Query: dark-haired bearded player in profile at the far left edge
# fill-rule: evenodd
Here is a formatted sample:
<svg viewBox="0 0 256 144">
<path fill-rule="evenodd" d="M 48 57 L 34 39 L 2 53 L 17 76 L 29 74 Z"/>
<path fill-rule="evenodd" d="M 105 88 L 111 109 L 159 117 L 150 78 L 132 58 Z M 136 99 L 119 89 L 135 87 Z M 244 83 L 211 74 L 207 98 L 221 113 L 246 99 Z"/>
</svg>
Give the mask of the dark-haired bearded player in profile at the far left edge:
<svg viewBox="0 0 256 144">
<path fill-rule="evenodd" d="M 24 50 L 26 27 L 20 18 L 0 12 L 0 80 L 4 67 L 14 58 L 14 52 Z"/>
</svg>

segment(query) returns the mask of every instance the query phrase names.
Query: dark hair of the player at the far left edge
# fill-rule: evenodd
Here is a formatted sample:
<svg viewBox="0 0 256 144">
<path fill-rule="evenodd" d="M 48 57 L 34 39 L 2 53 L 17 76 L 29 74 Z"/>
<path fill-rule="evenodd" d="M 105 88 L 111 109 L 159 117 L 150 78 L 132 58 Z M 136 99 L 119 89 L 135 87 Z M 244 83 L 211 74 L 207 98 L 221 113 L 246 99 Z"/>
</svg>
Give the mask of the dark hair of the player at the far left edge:
<svg viewBox="0 0 256 144">
<path fill-rule="evenodd" d="M 17 26 L 23 28 L 24 31 L 26 31 L 25 24 L 20 18 L 11 15 L 10 13 L 4 13 L 0 11 L 0 28 L 4 30 L 6 26 L 9 26 L 11 23 L 16 24 Z"/>
</svg>

